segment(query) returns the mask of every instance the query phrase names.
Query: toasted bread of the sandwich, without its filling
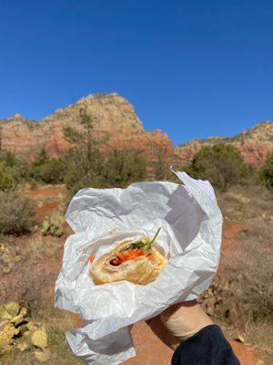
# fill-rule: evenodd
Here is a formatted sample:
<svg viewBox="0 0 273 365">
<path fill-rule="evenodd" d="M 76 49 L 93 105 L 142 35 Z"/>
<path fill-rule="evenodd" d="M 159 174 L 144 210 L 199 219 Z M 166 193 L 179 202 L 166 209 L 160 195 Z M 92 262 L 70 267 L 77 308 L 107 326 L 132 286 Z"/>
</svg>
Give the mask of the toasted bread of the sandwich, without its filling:
<svg viewBox="0 0 273 365">
<path fill-rule="evenodd" d="M 152 247 L 153 259 L 149 260 L 146 255 L 141 255 L 134 260 L 128 260 L 119 266 L 110 264 L 110 260 L 131 241 L 117 245 L 109 254 L 103 255 L 94 263 L 90 269 L 90 275 L 95 284 L 113 283 L 120 280 L 127 280 L 134 284 L 146 285 L 156 280 L 167 260 L 161 255 L 157 248 Z"/>
</svg>

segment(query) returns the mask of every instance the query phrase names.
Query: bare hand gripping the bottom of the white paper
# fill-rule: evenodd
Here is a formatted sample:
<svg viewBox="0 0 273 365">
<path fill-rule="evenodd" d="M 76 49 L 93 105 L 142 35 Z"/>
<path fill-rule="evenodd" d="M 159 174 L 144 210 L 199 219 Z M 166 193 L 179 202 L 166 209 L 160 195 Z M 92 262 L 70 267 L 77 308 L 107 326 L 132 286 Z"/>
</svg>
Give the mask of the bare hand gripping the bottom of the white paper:
<svg viewBox="0 0 273 365">
<path fill-rule="evenodd" d="M 171 349 L 213 324 L 196 300 L 175 304 L 147 320 L 147 325 Z"/>
</svg>

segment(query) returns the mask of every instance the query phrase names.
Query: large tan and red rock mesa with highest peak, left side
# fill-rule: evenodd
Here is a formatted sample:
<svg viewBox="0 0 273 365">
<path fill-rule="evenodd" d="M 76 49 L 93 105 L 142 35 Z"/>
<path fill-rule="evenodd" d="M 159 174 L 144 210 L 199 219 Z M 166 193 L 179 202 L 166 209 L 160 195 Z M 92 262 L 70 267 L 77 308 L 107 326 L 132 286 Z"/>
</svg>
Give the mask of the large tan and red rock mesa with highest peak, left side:
<svg viewBox="0 0 273 365">
<path fill-rule="evenodd" d="M 2 149 L 25 157 L 33 157 L 42 147 L 51 156 L 67 151 L 71 146 L 64 137 L 63 128 L 77 123 L 82 108 L 96 117 L 96 132 L 106 134 L 107 144 L 116 149 L 148 153 L 155 147 L 167 154 L 173 151 L 167 134 L 161 130 L 146 131 L 132 104 L 116 93 L 88 95 L 40 122 L 26 120 L 20 114 L 0 120 Z"/>
</svg>

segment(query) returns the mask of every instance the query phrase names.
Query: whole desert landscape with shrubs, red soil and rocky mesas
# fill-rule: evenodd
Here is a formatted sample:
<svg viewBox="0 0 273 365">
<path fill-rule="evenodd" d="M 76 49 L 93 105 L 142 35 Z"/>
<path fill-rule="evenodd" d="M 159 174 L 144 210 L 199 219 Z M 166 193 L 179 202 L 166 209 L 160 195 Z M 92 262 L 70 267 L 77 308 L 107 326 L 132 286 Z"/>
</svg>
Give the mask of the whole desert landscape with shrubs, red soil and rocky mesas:
<svg viewBox="0 0 273 365">
<path fill-rule="evenodd" d="M 80 364 L 65 332 L 80 319 L 55 308 L 64 214 L 81 188 L 177 182 L 169 166 L 209 180 L 224 216 L 217 276 L 200 298 L 242 365 L 273 358 L 273 123 L 229 138 L 174 147 L 146 131 L 116 93 L 91 94 L 43 120 L 0 120 L 0 363 Z M 172 351 L 145 323 L 132 329 L 136 358 L 169 364 Z"/>
</svg>

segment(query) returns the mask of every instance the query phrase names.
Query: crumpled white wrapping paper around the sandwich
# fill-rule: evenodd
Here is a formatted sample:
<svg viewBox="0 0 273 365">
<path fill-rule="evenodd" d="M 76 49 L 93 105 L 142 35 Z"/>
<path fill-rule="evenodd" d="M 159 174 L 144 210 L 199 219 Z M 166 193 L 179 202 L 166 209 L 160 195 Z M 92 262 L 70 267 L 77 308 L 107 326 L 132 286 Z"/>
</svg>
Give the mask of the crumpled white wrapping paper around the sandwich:
<svg viewBox="0 0 273 365">
<path fill-rule="evenodd" d="M 66 221 L 66 240 L 56 280 L 56 307 L 77 313 L 83 328 L 66 332 L 69 347 L 86 364 L 117 365 L 136 356 L 128 326 L 170 305 L 197 298 L 217 271 L 222 214 L 210 183 L 175 172 L 185 183 L 133 183 L 126 189 L 82 189 Z M 96 286 L 88 257 L 111 251 L 128 237 L 152 237 L 168 263 L 147 286 L 127 281 Z"/>
</svg>

